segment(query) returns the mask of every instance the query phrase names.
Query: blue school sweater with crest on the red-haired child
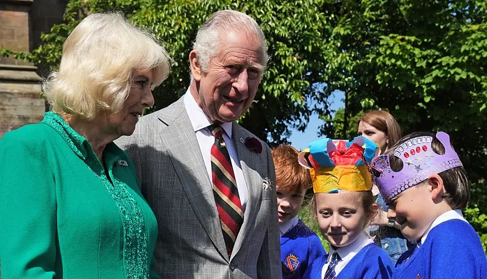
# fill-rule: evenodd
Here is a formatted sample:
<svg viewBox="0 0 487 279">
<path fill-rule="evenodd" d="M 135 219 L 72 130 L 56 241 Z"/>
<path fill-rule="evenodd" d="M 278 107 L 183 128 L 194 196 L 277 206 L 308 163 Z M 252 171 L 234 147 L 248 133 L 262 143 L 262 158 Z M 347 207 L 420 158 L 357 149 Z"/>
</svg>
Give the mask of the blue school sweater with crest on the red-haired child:
<svg viewBox="0 0 487 279">
<path fill-rule="evenodd" d="M 281 236 L 283 278 L 302 278 L 308 266 L 325 253 L 316 233 L 299 220 Z"/>
</svg>

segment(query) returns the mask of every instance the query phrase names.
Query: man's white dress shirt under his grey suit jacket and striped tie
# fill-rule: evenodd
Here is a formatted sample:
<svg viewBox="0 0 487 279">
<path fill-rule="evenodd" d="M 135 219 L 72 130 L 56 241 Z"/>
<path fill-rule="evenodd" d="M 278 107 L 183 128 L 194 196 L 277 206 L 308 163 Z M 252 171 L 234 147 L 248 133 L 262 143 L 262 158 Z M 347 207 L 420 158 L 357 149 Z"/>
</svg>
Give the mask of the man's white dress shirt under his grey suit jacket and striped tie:
<svg viewBox="0 0 487 279">
<path fill-rule="evenodd" d="M 201 155 L 203 156 L 203 161 L 208 172 L 209 181 L 212 183 L 211 177 L 211 147 L 215 144 L 215 137 L 206 128 L 213 124 L 209 121 L 208 117 L 203 113 L 203 110 L 198 106 L 198 103 L 191 95 L 190 89 L 186 91 L 184 96 L 184 103 L 186 112 L 193 125 L 193 129 L 196 133 L 196 140 L 201 150 Z M 235 145 L 232 141 L 232 122 L 223 123 L 221 125 L 223 132 L 223 140 L 230 155 L 230 160 L 232 161 L 233 173 L 235 174 L 235 182 L 237 183 L 238 196 L 240 198 L 240 203 L 242 205 L 242 212 L 245 212 L 245 205 L 247 203 L 248 190 L 247 184 L 245 182 L 244 173 L 240 167 L 240 160 L 238 160 L 237 152 L 235 150 Z"/>
</svg>

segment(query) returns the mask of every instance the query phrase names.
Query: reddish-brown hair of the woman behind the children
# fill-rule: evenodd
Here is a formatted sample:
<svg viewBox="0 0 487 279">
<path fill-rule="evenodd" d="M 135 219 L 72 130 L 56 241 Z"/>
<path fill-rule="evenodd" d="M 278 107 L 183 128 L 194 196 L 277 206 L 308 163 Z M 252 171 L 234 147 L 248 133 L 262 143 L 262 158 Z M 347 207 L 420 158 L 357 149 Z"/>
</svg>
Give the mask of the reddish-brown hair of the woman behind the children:
<svg viewBox="0 0 487 279">
<path fill-rule="evenodd" d="M 358 122 L 363 121 L 377 130 L 385 133 L 389 138 L 388 146 L 393 146 L 402 137 L 401 127 L 394 117 L 386 111 L 369 111 L 362 115 Z"/>
</svg>

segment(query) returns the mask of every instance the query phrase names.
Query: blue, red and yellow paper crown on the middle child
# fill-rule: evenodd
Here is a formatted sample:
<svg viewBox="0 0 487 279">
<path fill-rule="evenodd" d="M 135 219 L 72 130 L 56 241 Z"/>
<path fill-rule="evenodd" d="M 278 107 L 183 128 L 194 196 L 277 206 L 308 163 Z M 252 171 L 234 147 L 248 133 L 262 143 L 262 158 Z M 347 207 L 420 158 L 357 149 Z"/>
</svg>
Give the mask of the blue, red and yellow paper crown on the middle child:
<svg viewBox="0 0 487 279">
<path fill-rule="evenodd" d="M 363 160 L 370 163 L 377 151 L 377 144 L 363 136 L 352 142 L 325 138 L 312 142 L 298 160 L 310 169 L 315 193 L 368 191 L 372 177 Z"/>
</svg>

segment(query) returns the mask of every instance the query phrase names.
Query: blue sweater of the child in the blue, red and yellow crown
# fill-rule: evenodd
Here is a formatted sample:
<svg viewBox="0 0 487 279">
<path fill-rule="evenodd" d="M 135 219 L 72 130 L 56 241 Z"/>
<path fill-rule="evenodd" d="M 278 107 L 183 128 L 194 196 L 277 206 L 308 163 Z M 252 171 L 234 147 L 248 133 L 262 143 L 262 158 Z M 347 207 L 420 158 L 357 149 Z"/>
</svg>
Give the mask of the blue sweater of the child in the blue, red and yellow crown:
<svg viewBox="0 0 487 279">
<path fill-rule="evenodd" d="M 328 255 L 316 259 L 306 270 L 303 279 L 322 279 L 321 271 L 326 263 Z M 379 248 L 376 243 L 371 243 L 362 248 L 352 260 L 340 271 L 336 279 L 376 279 L 390 278 L 394 264 L 389 255 Z M 405 277 L 406 278 L 406 277 Z"/>
</svg>

